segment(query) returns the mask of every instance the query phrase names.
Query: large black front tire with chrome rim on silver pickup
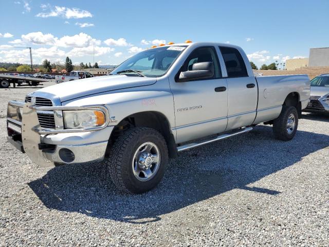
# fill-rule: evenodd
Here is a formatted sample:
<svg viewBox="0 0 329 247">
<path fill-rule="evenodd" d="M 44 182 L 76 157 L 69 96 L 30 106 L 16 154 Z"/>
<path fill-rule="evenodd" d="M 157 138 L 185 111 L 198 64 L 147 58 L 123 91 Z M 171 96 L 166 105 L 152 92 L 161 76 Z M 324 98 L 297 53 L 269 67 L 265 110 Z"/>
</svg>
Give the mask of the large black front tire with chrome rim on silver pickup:
<svg viewBox="0 0 329 247">
<path fill-rule="evenodd" d="M 156 130 L 136 127 L 120 135 L 111 147 L 107 168 L 116 187 L 143 193 L 154 188 L 168 165 L 165 138 Z"/>
</svg>

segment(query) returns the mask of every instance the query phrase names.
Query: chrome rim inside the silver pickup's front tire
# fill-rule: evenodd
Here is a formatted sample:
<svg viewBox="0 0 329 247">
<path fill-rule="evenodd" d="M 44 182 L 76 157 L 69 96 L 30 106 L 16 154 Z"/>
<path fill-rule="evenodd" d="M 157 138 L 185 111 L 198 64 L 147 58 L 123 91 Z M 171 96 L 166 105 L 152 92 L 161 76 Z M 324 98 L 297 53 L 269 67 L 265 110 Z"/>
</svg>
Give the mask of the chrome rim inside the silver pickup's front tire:
<svg viewBox="0 0 329 247">
<path fill-rule="evenodd" d="M 135 178 L 142 182 L 151 180 L 159 170 L 160 162 L 159 148 L 151 142 L 143 143 L 137 148 L 133 158 Z"/>
</svg>

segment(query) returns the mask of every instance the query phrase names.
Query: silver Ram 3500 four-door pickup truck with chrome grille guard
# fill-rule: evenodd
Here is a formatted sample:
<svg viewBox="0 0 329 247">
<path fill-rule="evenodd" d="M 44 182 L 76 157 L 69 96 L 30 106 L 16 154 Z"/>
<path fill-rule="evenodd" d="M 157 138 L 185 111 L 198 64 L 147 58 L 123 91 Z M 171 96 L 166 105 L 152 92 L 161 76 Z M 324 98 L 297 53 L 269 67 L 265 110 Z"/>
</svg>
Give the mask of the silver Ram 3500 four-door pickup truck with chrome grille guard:
<svg viewBox="0 0 329 247">
<path fill-rule="evenodd" d="M 109 76 L 45 87 L 8 103 L 8 141 L 40 166 L 102 161 L 116 186 L 142 193 L 177 153 L 273 125 L 290 140 L 309 101 L 307 75 L 255 78 L 242 48 L 151 48 Z M 203 137 L 200 140 L 200 137 Z"/>
</svg>

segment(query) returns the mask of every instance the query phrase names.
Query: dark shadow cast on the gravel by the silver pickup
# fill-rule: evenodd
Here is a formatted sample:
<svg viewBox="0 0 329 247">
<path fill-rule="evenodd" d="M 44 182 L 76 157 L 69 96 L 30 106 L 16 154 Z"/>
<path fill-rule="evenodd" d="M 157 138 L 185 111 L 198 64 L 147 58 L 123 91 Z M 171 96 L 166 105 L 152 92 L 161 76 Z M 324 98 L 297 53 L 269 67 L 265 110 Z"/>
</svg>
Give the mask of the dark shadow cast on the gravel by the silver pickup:
<svg viewBox="0 0 329 247">
<path fill-rule="evenodd" d="M 328 144 L 328 135 L 306 131 L 280 142 L 273 138 L 271 127 L 257 126 L 249 133 L 180 153 L 157 188 L 142 195 L 117 192 L 101 164 L 56 167 L 29 186 L 50 209 L 142 224 L 232 189 L 276 196 L 284 191 L 249 184 Z"/>
</svg>

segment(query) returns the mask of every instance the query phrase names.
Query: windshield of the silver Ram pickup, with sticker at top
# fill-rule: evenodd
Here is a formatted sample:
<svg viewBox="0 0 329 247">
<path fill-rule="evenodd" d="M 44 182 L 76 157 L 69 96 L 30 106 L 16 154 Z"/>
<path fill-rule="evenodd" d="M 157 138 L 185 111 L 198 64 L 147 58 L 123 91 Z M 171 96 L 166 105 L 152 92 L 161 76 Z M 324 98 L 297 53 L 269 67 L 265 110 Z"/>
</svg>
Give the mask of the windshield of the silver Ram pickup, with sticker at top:
<svg viewBox="0 0 329 247">
<path fill-rule="evenodd" d="M 111 74 L 121 72 L 119 74 L 138 76 L 132 71 L 137 70 L 146 77 L 163 76 L 185 48 L 186 46 L 166 46 L 142 51 L 121 63 Z"/>
</svg>

